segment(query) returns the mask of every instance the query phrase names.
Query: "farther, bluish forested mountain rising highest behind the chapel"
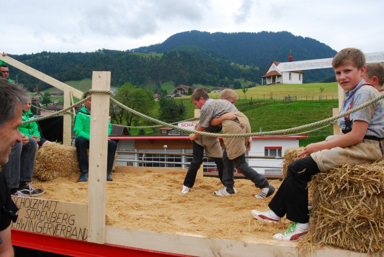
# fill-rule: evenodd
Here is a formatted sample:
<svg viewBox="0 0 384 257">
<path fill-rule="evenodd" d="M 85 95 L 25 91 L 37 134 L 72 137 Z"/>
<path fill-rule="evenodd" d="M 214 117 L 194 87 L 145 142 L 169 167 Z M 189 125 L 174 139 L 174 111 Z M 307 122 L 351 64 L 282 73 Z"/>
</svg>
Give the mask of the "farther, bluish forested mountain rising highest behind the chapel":
<svg viewBox="0 0 384 257">
<path fill-rule="evenodd" d="M 328 45 L 310 37 L 280 32 L 202 32 L 197 30 L 176 33 L 164 42 L 135 49 L 141 52 L 165 52 L 180 45 L 194 45 L 211 50 L 233 62 L 255 65 L 265 71 L 272 60 L 288 61 L 289 50 L 293 60 L 333 57 L 337 52 Z M 321 81 L 333 76 L 332 69 L 305 70 L 304 82 Z"/>
</svg>

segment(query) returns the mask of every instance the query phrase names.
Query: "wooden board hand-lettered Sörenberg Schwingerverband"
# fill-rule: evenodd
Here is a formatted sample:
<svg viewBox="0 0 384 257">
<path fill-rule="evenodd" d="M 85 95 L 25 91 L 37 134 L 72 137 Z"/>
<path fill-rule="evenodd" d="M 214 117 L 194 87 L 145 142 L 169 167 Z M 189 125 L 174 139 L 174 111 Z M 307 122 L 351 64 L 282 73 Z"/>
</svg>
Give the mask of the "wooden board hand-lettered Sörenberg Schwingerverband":
<svg viewBox="0 0 384 257">
<path fill-rule="evenodd" d="M 87 239 L 87 204 L 19 196 L 12 196 L 12 200 L 18 208 L 18 218 L 11 228 Z"/>
</svg>

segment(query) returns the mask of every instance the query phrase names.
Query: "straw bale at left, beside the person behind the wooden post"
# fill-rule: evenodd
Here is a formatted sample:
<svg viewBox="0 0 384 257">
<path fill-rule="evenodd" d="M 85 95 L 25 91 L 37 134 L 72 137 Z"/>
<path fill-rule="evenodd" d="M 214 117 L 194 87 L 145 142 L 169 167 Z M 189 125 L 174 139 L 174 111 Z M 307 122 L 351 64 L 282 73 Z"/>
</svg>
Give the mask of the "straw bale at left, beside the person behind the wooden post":
<svg viewBox="0 0 384 257">
<path fill-rule="evenodd" d="M 69 177 L 79 172 L 76 148 L 52 142 L 36 151 L 33 174 L 40 180 Z"/>
</svg>

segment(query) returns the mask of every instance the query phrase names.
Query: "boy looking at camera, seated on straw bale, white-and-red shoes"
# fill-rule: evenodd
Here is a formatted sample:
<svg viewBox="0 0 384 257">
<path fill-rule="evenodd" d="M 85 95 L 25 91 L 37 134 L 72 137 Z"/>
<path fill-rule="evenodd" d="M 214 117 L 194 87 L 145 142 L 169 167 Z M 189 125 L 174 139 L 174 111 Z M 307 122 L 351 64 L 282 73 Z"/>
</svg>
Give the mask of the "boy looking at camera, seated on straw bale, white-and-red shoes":
<svg viewBox="0 0 384 257">
<path fill-rule="evenodd" d="M 332 60 L 338 84 L 346 90 L 341 113 L 361 105 L 379 92 L 361 79 L 365 71 L 365 56 L 355 48 L 339 51 Z M 288 165 L 286 178 L 269 202 L 269 211 L 252 210 L 252 216 L 265 222 L 279 222 L 286 218 L 293 223 L 284 231 L 274 234 L 273 239 L 294 241 L 308 231 L 308 189 L 312 176 L 343 163 L 372 163 L 383 151 L 380 140 L 384 137 L 384 101 L 338 119 L 343 134 L 328 140 L 311 143 L 298 156 L 304 156 Z"/>
</svg>

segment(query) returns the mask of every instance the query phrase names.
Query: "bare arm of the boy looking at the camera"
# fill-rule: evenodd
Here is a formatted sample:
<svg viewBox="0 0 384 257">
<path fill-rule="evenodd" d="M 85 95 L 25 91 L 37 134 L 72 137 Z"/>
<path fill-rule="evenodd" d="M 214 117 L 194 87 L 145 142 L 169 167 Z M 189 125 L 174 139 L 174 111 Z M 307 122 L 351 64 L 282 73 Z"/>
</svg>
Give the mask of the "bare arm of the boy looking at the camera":
<svg viewBox="0 0 384 257">
<path fill-rule="evenodd" d="M 356 143 L 359 143 L 364 138 L 366 129 L 368 128 L 368 122 L 362 120 L 353 121 L 352 130 L 339 136 L 333 140 L 321 141 L 317 143 L 311 143 L 304 147 L 303 151 L 298 153 L 297 156 L 308 156 L 312 152 L 316 152 L 323 149 L 330 149 L 333 147 L 346 147 Z"/>
</svg>

